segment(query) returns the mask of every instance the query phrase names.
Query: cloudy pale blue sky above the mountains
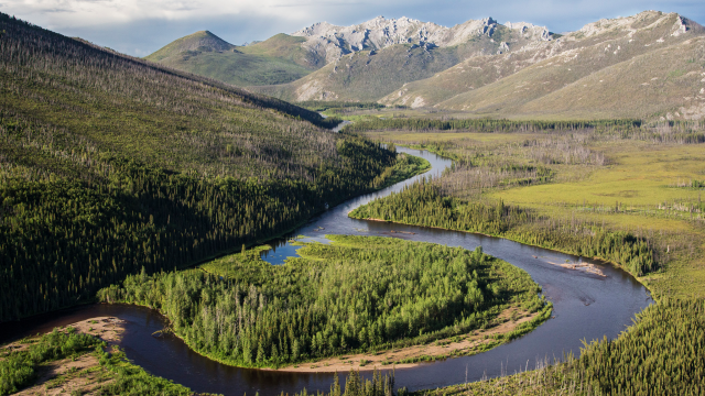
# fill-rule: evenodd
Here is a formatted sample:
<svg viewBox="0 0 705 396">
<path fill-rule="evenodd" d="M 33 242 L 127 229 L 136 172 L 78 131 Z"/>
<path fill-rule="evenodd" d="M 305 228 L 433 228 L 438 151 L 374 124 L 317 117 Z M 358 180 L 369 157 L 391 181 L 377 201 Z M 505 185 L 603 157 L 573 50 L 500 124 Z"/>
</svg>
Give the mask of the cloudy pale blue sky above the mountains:
<svg viewBox="0 0 705 396">
<path fill-rule="evenodd" d="M 383 15 L 445 26 L 491 16 L 562 33 L 644 10 L 705 24 L 703 0 L 0 0 L 0 12 L 133 56 L 203 30 L 240 45 L 316 22 L 351 25 Z"/>
</svg>

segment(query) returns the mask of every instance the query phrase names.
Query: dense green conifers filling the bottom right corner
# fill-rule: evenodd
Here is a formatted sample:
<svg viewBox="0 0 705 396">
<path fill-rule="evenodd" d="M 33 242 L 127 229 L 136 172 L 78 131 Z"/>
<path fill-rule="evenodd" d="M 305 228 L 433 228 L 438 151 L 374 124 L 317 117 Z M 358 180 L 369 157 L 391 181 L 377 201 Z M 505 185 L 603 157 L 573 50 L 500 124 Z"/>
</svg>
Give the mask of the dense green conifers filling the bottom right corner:
<svg viewBox="0 0 705 396">
<path fill-rule="evenodd" d="M 616 340 L 587 344 L 576 371 L 600 394 L 698 395 L 705 377 L 705 300 L 663 299 Z"/>
</svg>

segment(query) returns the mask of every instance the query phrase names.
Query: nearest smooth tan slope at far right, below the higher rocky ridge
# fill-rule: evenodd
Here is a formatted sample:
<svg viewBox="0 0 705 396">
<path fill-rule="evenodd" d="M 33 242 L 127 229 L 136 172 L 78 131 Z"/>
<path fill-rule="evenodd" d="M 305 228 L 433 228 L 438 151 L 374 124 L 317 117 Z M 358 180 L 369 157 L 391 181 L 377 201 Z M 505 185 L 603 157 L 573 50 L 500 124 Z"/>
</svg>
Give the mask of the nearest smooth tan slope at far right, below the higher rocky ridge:
<svg viewBox="0 0 705 396">
<path fill-rule="evenodd" d="M 649 52 L 581 78 L 512 112 L 532 117 L 703 119 L 704 47 L 705 36 L 699 36 Z"/>
</svg>

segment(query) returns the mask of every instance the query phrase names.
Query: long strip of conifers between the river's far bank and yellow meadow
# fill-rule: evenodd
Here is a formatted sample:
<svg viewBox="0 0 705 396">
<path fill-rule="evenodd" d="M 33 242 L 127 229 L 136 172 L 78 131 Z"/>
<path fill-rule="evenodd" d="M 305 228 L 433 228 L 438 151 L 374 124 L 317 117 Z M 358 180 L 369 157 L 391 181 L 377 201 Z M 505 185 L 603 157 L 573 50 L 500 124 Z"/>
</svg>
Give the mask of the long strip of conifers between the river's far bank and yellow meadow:
<svg viewBox="0 0 705 396">
<path fill-rule="evenodd" d="M 619 263 L 636 276 L 658 268 L 654 251 L 642 238 L 597 224 L 560 221 L 507 206 L 446 197 L 426 179 L 350 212 L 357 219 L 480 232 L 567 253 Z"/>
</svg>

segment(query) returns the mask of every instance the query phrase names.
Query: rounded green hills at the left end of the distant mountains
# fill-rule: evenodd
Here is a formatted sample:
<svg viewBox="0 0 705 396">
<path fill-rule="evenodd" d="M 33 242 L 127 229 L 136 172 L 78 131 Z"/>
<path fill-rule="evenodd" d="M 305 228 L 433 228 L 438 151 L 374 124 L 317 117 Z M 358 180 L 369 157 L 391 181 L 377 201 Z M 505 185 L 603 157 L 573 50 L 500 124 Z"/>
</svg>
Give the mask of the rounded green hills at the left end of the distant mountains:
<svg viewBox="0 0 705 396">
<path fill-rule="evenodd" d="M 278 34 L 248 46 L 229 44 L 204 31 L 178 38 L 145 59 L 235 86 L 283 84 L 323 66 L 302 48 L 305 40 Z"/>
</svg>

